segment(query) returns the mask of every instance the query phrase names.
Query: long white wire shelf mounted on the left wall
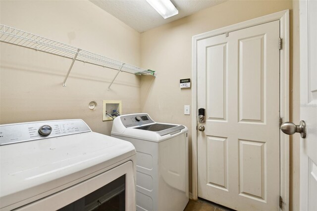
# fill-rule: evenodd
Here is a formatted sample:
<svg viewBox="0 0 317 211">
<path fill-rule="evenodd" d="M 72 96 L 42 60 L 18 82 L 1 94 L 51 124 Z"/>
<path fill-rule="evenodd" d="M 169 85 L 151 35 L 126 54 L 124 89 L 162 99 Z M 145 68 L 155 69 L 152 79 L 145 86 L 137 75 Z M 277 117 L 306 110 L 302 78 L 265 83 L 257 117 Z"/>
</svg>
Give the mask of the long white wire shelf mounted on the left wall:
<svg viewBox="0 0 317 211">
<path fill-rule="evenodd" d="M 40 52 L 51 53 L 65 58 L 95 64 L 110 69 L 121 70 L 132 74 L 156 76 L 155 71 L 142 69 L 131 64 L 126 64 L 121 61 L 107 58 L 103 55 L 81 50 L 73 46 L 2 24 L 0 24 L 0 42 L 22 46 Z"/>
</svg>

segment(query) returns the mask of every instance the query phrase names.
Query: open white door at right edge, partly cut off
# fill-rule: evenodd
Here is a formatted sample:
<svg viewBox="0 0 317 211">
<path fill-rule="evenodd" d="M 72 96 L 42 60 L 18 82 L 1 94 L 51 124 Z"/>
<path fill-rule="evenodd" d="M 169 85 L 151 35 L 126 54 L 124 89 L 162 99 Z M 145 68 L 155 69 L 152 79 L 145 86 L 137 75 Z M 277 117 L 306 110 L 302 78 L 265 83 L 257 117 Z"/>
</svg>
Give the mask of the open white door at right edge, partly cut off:
<svg viewBox="0 0 317 211">
<path fill-rule="evenodd" d="M 300 1 L 301 139 L 300 208 L 317 211 L 317 1 Z M 298 124 L 298 122 L 294 122 Z M 298 135 L 298 134 L 294 134 Z"/>
</svg>

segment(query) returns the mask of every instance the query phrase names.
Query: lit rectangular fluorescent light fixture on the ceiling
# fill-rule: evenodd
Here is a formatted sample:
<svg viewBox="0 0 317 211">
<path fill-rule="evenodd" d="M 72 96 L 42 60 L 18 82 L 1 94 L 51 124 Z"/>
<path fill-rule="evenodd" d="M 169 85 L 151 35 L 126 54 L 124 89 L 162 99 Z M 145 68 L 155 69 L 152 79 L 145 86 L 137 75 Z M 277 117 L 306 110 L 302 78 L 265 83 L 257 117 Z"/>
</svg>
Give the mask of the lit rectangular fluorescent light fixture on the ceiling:
<svg viewBox="0 0 317 211">
<path fill-rule="evenodd" d="M 177 15 L 178 10 L 170 0 L 146 0 L 164 18 Z"/>
</svg>

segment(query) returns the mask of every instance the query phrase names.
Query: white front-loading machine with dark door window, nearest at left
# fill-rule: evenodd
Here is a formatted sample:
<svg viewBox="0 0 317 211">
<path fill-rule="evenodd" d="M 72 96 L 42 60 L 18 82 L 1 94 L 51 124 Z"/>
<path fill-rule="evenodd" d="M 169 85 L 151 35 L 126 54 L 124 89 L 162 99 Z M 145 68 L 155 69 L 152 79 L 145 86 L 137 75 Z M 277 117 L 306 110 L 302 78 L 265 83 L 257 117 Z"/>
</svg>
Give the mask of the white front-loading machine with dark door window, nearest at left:
<svg viewBox="0 0 317 211">
<path fill-rule="evenodd" d="M 0 145 L 1 211 L 136 209 L 135 148 L 81 119 L 0 125 Z"/>
</svg>

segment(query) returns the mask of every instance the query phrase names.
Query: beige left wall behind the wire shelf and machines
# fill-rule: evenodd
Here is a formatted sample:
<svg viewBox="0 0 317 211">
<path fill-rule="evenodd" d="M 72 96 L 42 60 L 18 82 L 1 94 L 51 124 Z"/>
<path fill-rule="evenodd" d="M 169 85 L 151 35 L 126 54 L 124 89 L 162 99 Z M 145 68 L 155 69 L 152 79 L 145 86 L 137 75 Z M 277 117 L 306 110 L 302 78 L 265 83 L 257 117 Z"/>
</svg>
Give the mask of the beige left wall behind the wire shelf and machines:
<svg viewBox="0 0 317 211">
<path fill-rule="evenodd" d="M 140 64 L 140 33 L 88 0 L 0 1 L 1 24 L 41 35 L 133 65 Z M 110 134 L 102 101 L 122 100 L 123 113 L 140 112 L 140 76 L 0 44 L 0 123 L 82 118 L 92 130 Z M 88 104 L 96 101 L 96 110 Z"/>
</svg>

